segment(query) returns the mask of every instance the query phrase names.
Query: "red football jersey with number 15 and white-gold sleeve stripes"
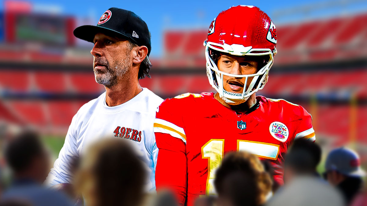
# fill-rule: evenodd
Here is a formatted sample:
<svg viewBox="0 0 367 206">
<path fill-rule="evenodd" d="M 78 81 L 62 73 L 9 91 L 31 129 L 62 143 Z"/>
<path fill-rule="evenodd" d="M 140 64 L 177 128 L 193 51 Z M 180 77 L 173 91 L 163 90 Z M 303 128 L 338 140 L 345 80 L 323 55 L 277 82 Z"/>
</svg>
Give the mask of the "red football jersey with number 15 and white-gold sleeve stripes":
<svg viewBox="0 0 367 206">
<path fill-rule="evenodd" d="M 281 164 L 290 144 L 298 138 L 315 141 L 311 115 L 286 100 L 256 99 L 253 110 L 243 114 L 223 106 L 213 93 L 166 99 L 154 123 L 157 190 L 169 188 L 180 205 L 192 206 L 199 195 L 215 194 L 215 170 L 226 152 L 238 150 L 269 159 L 274 180 L 282 183 Z"/>
</svg>

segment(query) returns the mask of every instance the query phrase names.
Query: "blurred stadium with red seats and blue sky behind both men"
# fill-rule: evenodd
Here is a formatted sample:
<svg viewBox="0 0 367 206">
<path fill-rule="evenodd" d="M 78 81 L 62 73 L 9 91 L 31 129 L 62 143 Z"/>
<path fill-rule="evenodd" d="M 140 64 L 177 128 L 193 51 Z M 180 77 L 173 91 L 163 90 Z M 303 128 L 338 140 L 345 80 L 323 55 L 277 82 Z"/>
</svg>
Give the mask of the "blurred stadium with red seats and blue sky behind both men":
<svg viewBox="0 0 367 206">
<path fill-rule="evenodd" d="M 134 11 L 148 24 L 153 68 L 142 87 L 162 98 L 214 91 L 203 41 L 218 13 L 239 4 L 256 5 L 277 28 L 278 54 L 258 95 L 301 104 L 324 155 L 347 145 L 366 166 L 366 0 L 2 1 L 0 137 L 34 128 L 57 157 L 73 115 L 105 90 L 94 80 L 92 44 L 73 30 L 96 25 L 110 7 Z"/>
</svg>

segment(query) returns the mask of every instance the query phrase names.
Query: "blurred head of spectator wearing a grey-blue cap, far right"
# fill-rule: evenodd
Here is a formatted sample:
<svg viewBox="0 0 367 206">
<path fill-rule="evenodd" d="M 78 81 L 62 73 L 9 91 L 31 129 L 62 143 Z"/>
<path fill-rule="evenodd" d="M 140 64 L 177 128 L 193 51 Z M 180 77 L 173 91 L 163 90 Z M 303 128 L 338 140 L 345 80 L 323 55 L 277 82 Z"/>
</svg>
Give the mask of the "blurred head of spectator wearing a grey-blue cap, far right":
<svg viewBox="0 0 367 206">
<path fill-rule="evenodd" d="M 360 167 L 358 154 L 345 147 L 332 150 L 325 163 L 325 179 L 338 188 L 350 203 L 362 187 L 366 176 Z"/>
</svg>

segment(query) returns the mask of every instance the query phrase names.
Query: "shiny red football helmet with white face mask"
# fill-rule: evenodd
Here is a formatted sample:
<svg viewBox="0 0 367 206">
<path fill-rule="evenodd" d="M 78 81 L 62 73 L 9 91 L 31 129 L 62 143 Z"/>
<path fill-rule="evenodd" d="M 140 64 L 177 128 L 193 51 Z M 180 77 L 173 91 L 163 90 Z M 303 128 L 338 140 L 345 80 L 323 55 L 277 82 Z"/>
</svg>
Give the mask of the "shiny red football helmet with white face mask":
<svg viewBox="0 0 367 206">
<path fill-rule="evenodd" d="M 207 75 L 219 96 L 230 104 L 239 104 L 262 89 L 268 81 L 269 69 L 276 54 L 276 29 L 265 12 L 258 7 L 239 5 L 222 11 L 211 22 L 206 46 Z M 238 75 L 219 71 L 214 54 L 263 56 L 256 74 Z M 223 88 L 223 76 L 246 78 L 243 92 L 228 92 Z M 252 77 L 252 80 L 251 78 Z M 247 80 L 251 83 L 247 87 Z"/>
</svg>

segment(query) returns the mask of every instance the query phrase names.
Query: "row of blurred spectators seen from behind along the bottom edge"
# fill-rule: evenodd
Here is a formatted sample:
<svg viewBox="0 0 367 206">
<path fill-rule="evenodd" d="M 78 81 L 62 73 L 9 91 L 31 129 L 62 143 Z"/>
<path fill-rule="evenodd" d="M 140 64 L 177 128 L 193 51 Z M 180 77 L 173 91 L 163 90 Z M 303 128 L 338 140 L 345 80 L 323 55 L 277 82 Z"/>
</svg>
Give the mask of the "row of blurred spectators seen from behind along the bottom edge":
<svg viewBox="0 0 367 206">
<path fill-rule="evenodd" d="M 52 165 L 37 133 L 24 131 L 1 145 L 0 206 L 177 205 L 169 191 L 145 193 L 146 168 L 128 141 L 106 139 L 89 147 L 74 164 L 72 188 L 62 190 L 68 194 L 43 185 Z M 218 195 L 201 196 L 195 206 L 366 205 L 366 173 L 359 155 L 335 148 L 319 174 L 321 155 L 317 143 L 295 141 L 282 168 L 284 185 L 275 185 L 272 173 L 279 168 L 248 152 L 225 154 L 214 182 Z"/>
</svg>

